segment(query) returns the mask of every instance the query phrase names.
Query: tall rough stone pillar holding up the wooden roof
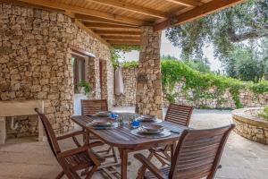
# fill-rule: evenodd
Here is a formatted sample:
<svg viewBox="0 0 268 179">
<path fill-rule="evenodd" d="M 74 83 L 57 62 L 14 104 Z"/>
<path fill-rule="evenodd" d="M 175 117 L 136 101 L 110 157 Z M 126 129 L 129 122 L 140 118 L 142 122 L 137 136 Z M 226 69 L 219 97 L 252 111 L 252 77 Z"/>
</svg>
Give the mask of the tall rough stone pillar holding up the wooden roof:
<svg viewBox="0 0 268 179">
<path fill-rule="evenodd" d="M 150 26 L 141 28 L 136 112 L 162 118 L 160 43 L 160 31 L 155 32 Z"/>
</svg>

